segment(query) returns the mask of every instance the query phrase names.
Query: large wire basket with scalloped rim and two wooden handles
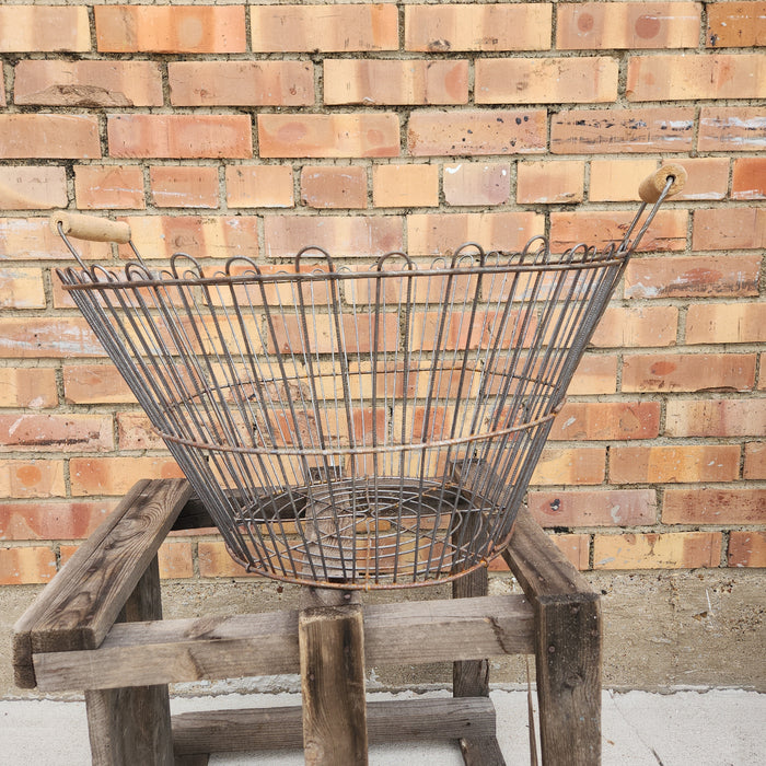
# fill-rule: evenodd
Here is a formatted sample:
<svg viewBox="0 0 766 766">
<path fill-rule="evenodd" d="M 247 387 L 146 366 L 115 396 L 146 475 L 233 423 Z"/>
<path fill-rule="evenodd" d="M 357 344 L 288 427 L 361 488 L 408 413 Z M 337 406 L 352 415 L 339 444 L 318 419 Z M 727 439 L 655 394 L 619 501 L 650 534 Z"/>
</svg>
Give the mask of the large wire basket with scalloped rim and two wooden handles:
<svg viewBox="0 0 766 766">
<path fill-rule="evenodd" d="M 67 233 L 129 232 L 60 214 L 80 268 L 58 274 L 236 561 L 324 587 L 428 584 L 508 544 L 582 352 L 682 176 L 652 176 L 643 225 L 634 236 L 646 201 L 601 252 L 534 237 L 360 270 L 307 247 L 279 270 L 176 254 L 155 272 L 134 246 L 117 271 Z"/>
</svg>

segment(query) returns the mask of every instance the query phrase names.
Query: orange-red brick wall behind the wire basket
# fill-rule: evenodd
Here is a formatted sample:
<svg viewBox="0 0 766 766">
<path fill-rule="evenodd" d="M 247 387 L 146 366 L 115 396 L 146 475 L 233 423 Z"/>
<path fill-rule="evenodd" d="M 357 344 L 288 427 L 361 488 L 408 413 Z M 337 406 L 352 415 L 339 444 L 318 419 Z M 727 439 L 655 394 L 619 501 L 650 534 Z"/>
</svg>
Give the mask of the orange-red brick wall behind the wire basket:
<svg viewBox="0 0 766 766">
<path fill-rule="evenodd" d="M 178 474 L 53 270 L 50 209 L 264 262 L 619 233 L 629 266 L 530 504 L 581 569 L 766 566 L 766 3 L 0 7 L 0 584 Z M 91 244 L 86 257 L 109 258 Z M 121 251 L 114 256 L 124 255 Z M 214 535 L 169 578 L 240 574 Z"/>
</svg>

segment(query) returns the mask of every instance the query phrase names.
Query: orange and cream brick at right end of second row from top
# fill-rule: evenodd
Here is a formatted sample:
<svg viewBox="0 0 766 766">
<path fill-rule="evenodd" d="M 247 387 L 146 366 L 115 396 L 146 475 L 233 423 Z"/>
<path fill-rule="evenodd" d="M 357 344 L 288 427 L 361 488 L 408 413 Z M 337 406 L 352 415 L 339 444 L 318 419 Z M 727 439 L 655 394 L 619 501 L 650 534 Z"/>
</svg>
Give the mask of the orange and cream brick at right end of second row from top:
<svg viewBox="0 0 766 766">
<path fill-rule="evenodd" d="M 632 56 L 625 94 L 628 101 L 763 98 L 766 56 Z"/>
</svg>

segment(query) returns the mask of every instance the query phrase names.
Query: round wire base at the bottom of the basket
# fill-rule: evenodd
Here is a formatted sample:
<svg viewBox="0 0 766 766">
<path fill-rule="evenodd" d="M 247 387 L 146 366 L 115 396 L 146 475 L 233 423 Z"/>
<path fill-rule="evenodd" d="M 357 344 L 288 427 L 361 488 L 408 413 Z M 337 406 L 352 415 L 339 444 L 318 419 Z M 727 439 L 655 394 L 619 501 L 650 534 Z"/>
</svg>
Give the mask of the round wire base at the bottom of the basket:
<svg viewBox="0 0 766 766">
<path fill-rule="evenodd" d="M 241 534 L 256 543 L 242 564 L 277 580 L 357 590 L 411 588 L 487 566 L 507 545 L 495 543 L 491 527 L 501 509 L 444 480 L 340 479 L 283 501 L 286 509 L 300 510 L 263 521 L 259 504 L 239 520 Z M 503 526 L 508 521 L 504 514 Z"/>
</svg>

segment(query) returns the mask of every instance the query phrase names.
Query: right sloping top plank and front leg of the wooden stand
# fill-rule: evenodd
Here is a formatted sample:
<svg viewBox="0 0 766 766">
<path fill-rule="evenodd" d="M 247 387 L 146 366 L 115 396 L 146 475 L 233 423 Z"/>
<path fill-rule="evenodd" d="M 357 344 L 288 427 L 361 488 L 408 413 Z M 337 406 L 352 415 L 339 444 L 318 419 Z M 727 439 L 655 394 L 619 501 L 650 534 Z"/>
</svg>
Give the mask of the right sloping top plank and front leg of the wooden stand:
<svg viewBox="0 0 766 766">
<path fill-rule="evenodd" d="M 601 763 L 601 604 L 524 511 L 503 554 L 535 610 L 543 763 Z"/>
</svg>

